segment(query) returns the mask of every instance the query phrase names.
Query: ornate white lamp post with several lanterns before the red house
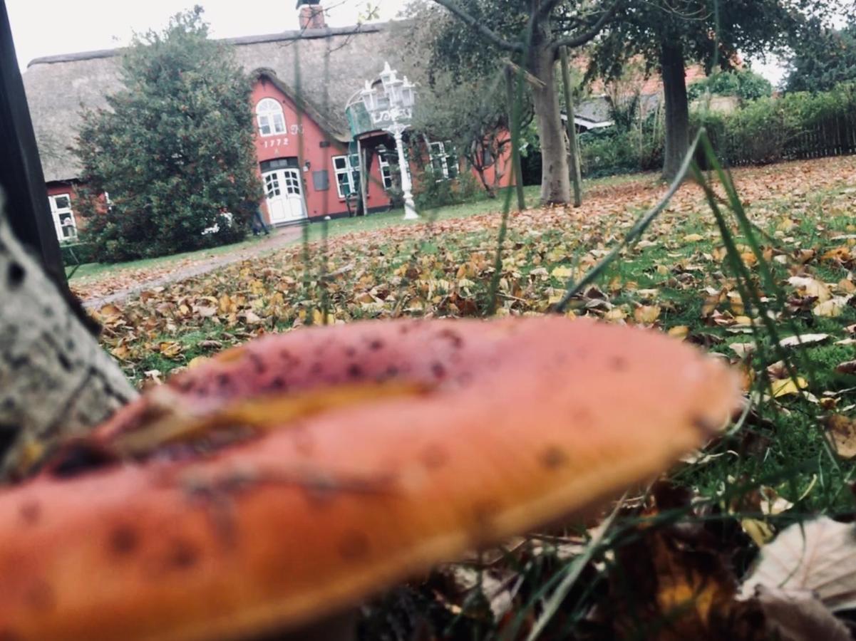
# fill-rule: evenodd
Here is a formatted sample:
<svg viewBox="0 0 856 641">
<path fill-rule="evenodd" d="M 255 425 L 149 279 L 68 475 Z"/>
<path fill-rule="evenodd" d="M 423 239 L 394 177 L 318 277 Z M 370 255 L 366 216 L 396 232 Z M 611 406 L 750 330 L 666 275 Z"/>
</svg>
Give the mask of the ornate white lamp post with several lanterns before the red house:
<svg viewBox="0 0 856 641">
<path fill-rule="evenodd" d="M 416 206 L 413 205 L 413 193 L 410 192 L 410 174 L 407 171 L 407 160 L 404 157 L 404 142 L 401 134 L 410 126 L 413 117 L 413 102 L 416 98 L 416 87 L 412 82 L 399 79 L 395 71 L 389 68 L 389 62 L 384 62 L 380 74 L 380 87 L 366 80 L 365 88 L 360 91 L 360 98 L 366 105 L 366 111 L 372 118 L 372 123 L 383 131 L 389 132 L 395 138 L 395 149 L 398 151 L 398 168 L 401 170 L 401 191 L 404 193 L 404 219 L 419 218 Z M 375 83 L 377 85 L 377 83 Z"/>
</svg>

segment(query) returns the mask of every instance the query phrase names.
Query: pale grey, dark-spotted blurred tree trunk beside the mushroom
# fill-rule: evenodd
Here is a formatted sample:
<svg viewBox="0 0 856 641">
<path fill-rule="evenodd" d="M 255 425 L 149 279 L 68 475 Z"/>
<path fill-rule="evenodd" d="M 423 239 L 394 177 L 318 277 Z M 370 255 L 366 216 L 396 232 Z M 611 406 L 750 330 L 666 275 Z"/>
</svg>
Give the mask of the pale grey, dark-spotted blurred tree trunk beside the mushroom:
<svg viewBox="0 0 856 641">
<path fill-rule="evenodd" d="M 0 212 L 0 479 L 136 395 Z"/>
</svg>

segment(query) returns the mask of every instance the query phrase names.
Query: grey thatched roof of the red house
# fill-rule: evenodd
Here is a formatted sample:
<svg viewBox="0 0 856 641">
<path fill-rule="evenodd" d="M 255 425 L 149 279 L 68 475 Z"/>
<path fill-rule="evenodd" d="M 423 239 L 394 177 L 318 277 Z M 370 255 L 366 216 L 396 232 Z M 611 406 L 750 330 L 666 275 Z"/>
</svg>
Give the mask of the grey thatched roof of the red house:
<svg viewBox="0 0 856 641">
<path fill-rule="evenodd" d="M 345 104 L 383 69 L 395 67 L 407 46 L 395 43 L 388 23 L 287 31 L 226 39 L 235 58 L 251 74 L 276 78 L 283 91 L 300 91 L 306 113 L 337 139 L 348 139 Z M 390 38 L 392 36 L 392 38 Z M 105 97 L 121 88 L 118 56 L 99 50 L 37 58 L 23 74 L 45 181 L 73 180 L 80 164 L 68 145 L 80 126 L 81 106 L 105 107 Z M 300 62 L 298 65 L 297 62 Z M 300 70 L 297 73 L 298 68 Z"/>
</svg>

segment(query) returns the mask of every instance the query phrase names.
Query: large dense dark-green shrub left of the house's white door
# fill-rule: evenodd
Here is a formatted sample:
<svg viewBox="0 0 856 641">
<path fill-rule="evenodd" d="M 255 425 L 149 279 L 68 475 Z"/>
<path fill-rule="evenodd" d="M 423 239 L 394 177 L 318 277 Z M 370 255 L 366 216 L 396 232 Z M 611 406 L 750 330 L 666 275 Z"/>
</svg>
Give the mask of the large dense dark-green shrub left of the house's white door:
<svg viewBox="0 0 856 641">
<path fill-rule="evenodd" d="M 81 239 L 99 261 L 240 240 L 261 199 L 251 83 L 226 46 L 207 39 L 200 12 L 136 37 L 110 109 L 84 116 Z"/>
</svg>

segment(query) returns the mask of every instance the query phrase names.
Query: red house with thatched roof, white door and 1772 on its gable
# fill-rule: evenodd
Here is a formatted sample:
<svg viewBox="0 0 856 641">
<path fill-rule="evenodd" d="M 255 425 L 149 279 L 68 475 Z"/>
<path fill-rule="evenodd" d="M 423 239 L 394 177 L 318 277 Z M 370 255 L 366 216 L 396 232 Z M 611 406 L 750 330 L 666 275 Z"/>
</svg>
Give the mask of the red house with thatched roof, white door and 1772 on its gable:
<svg viewBox="0 0 856 641">
<path fill-rule="evenodd" d="M 261 205 L 274 225 L 347 216 L 357 208 L 387 210 L 390 191 L 398 183 L 391 166 L 392 137 L 366 130 L 354 135 L 346 105 L 365 80 L 377 78 L 384 62 L 406 64 L 406 30 L 395 23 L 326 27 L 320 5 L 304 1 L 298 3 L 299 31 L 226 40 L 253 79 L 250 108 L 266 194 Z M 60 240 L 74 239 L 79 223 L 74 186 L 80 165 L 68 147 L 80 126 L 81 107 L 104 107 L 105 97 L 119 89 L 120 53 L 100 50 L 38 58 L 23 74 Z M 419 157 L 409 168 L 415 182 L 426 163 L 434 169 L 434 180 L 458 176 L 461 162 L 447 142 L 425 139 L 419 146 Z M 507 156 L 491 167 L 502 173 L 502 185 L 511 175 Z"/>
</svg>

